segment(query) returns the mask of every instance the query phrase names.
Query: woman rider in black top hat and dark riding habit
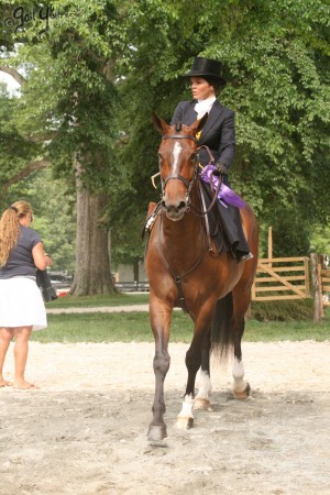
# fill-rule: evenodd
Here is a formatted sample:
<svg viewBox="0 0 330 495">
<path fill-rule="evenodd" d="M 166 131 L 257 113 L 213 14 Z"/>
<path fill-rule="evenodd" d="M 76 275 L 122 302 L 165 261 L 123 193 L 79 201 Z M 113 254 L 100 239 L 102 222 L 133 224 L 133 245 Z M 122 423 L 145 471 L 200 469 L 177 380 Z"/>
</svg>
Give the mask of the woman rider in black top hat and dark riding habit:
<svg viewBox="0 0 330 495">
<path fill-rule="evenodd" d="M 191 125 L 197 119 L 208 114 L 202 131 L 196 136 L 198 155 L 202 166 L 210 163 L 216 165 L 218 175 L 228 185 L 228 169 L 235 153 L 234 112 L 218 99 L 218 94 L 224 87 L 226 80 L 221 76 L 221 63 L 211 58 L 195 57 L 193 67 L 186 78 L 190 79 L 193 100 L 182 101 L 175 109 L 172 124 Z M 202 183 L 209 196 L 210 187 Z M 231 205 L 228 207 L 217 202 L 217 216 L 223 231 L 226 249 L 231 251 L 238 263 L 250 260 L 250 253 L 243 229 L 240 210 Z M 210 219 L 211 220 L 211 219 Z M 217 220 L 212 226 L 213 238 L 218 250 L 222 250 L 222 235 L 219 237 Z"/>
</svg>

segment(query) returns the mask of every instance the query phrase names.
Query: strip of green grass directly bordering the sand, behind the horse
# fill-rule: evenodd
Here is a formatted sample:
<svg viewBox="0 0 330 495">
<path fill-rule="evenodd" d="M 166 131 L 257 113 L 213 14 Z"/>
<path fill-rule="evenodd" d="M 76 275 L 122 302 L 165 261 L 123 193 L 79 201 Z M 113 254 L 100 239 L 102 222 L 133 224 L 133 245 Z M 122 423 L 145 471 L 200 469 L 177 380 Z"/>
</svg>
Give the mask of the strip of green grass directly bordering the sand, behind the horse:
<svg viewBox="0 0 330 495">
<path fill-rule="evenodd" d="M 174 311 L 170 342 L 190 343 L 193 322 Z M 246 321 L 245 342 L 324 341 L 330 339 L 330 311 L 321 323 L 312 321 Z M 48 315 L 48 328 L 33 332 L 37 342 L 153 342 L 148 312 Z"/>
</svg>

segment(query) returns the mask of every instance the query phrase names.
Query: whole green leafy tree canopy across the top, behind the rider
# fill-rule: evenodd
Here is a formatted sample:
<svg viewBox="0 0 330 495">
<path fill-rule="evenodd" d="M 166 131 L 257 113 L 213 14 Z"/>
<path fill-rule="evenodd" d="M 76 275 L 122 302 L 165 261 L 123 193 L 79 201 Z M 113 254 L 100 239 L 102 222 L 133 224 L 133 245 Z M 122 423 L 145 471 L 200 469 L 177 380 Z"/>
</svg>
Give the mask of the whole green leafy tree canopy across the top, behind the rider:
<svg viewBox="0 0 330 495">
<path fill-rule="evenodd" d="M 170 120 L 190 98 L 180 76 L 205 55 L 223 62 L 220 99 L 237 113 L 233 188 L 273 226 L 278 254 L 307 254 L 314 226 L 330 218 L 326 0 L 46 4 L 67 15 L 42 36 L 35 20 L 1 43 L 1 59 L 26 81 L 20 99 L 0 94 L 0 187 L 38 157 L 69 184 L 78 167 L 90 191 L 109 193 L 114 261 L 143 256 L 147 204 L 160 197 L 151 112 Z"/>
</svg>

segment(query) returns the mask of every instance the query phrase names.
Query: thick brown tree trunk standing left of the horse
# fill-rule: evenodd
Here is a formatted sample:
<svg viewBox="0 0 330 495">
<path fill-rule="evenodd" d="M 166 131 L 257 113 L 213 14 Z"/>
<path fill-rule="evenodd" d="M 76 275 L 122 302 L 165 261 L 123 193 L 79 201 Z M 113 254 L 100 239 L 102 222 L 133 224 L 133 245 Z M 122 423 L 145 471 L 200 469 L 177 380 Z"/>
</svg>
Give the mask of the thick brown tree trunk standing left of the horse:
<svg viewBox="0 0 330 495">
<path fill-rule="evenodd" d="M 108 231 L 99 226 L 100 213 L 107 205 L 106 195 L 90 195 L 77 189 L 77 248 L 74 296 L 113 293 L 108 252 Z"/>
</svg>

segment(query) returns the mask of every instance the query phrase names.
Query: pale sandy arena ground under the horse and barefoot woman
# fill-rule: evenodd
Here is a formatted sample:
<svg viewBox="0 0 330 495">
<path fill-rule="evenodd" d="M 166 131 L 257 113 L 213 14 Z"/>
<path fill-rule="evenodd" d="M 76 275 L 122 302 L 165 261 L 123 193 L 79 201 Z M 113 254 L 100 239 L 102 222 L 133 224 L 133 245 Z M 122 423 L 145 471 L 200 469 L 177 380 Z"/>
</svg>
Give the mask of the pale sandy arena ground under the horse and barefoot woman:
<svg viewBox="0 0 330 495">
<path fill-rule="evenodd" d="M 243 343 L 252 397 L 212 367 L 212 411 L 174 428 L 186 344 L 170 344 L 168 438 L 150 444 L 153 344 L 32 342 L 26 378 L 0 389 L 0 494 L 330 494 L 330 342 Z M 12 377 L 12 348 L 6 376 Z"/>
</svg>

